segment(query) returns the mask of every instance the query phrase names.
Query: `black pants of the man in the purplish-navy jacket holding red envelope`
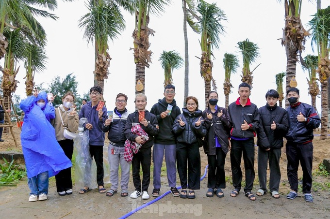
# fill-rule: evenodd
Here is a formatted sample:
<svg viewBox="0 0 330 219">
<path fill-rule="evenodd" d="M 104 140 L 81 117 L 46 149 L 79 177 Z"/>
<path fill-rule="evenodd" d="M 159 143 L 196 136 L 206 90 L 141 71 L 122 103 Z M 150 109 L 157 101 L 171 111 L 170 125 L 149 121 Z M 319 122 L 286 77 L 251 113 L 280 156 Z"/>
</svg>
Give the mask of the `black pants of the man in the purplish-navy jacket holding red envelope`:
<svg viewBox="0 0 330 219">
<path fill-rule="evenodd" d="M 103 146 L 89 145 L 89 153 L 96 163 L 96 181 L 98 186 L 104 186 L 103 177 Z"/>
</svg>

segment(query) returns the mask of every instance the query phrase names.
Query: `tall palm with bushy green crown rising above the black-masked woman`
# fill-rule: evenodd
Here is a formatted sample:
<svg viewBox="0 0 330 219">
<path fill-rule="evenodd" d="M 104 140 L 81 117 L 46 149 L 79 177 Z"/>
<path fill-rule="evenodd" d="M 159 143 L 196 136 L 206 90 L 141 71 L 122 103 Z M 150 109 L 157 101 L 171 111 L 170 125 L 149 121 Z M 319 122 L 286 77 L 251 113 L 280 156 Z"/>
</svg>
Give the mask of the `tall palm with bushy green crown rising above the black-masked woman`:
<svg viewBox="0 0 330 219">
<path fill-rule="evenodd" d="M 225 33 L 221 21 L 227 20 L 227 17 L 225 13 L 216 6 L 216 3 L 209 4 L 203 0 L 200 0 L 197 11 L 200 14 L 198 25 L 201 30 L 200 48 L 202 50 L 200 75 L 204 79 L 205 107 L 207 107 L 207 94 L 211 91 L 211 81 L 212 87 L 216 90 L 215 80 L 212 76 L 213 63 L 211 61 L 211 55 L 213 54 L 211 49 L 219 48 L 219 36 Z"/>
</svg>

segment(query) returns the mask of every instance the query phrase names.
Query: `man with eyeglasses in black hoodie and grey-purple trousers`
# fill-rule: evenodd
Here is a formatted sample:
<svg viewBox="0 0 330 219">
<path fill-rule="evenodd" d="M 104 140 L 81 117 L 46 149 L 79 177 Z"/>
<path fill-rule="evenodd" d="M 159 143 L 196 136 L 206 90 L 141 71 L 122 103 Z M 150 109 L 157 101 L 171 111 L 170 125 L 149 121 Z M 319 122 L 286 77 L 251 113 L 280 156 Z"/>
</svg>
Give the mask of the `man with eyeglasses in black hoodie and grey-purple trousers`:
<svg viewBox="0 0 330 219">
<path fill-rule="evenodd" d="M 165 152 L 166 172 L 169 187 L 173 196 L 180 195 L 176 188 L 176 138 L 172 132 L 172 126 L 175 118 L 181 114 L 177 102 L 174 100 L 175 87 L 166 85 L 164 89 L 164 98 L 158 100 L 150 110 L 150 113 L 156 115 L 159 123 L 159 132 L 155 136 L 153 146 L 153 191 L 152 196 L 157 197 L 161 188 L 161 168 Z M 170 106 L 169 106 L 170 105 Z"/>
</svg>

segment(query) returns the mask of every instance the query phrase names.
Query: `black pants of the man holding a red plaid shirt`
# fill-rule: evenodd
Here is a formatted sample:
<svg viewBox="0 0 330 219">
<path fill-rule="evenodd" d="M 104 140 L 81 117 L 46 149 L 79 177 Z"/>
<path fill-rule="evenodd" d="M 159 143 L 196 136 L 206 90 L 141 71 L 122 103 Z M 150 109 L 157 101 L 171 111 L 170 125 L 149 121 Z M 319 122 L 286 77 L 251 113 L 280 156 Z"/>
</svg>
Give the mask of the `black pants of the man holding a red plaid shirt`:
<svg viewBox="0 0 330 219">
<path fill-rule="evenodd" d="M 140 165 L 142 166 L 142 190 L 140 178 Z M 138 151 L 132 159 L 132 176 L 135 190 L 148 191 L 150 184 L 151 147 Z"/>
</svg>

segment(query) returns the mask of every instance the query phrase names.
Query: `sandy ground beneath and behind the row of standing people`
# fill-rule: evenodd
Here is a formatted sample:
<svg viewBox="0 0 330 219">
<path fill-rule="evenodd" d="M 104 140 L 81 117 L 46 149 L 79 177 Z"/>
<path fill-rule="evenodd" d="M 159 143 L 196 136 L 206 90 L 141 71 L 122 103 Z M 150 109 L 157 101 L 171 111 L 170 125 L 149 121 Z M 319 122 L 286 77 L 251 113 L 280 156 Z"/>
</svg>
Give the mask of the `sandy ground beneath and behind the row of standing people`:
<svg viewBox="0 0 330 219">
<path fill-rule="evenodd" d="M 19 141 L 19 129 L 14 128 L 16 139 Z M 20 151 L 20 145 L 15 147 L 14 141 L 10 133 L 4 133 L 3 139 L 6 141 L 1 143 L 0 151 L 16 150 Z M 318 140 L 315 136 L 314 140 L 314 171 L 318 164 L 324 158 L 330 158 L 330 139 L 326 141 Z M 257 150 L 256 150 L 257 151 Z M 201 172 L 202 175 L 207 165 L 207 157 L 200 151 L 201 154 Z M 257 158 L 257 156 L 256 156 Z M 256 161 L 256 160 L 255 160 Z M 242 163 L 243 166 L 243 163 Z M 244 169 L 244 168 L 243 168 Z M 315 218 L 325 219 L 330 215 L 330 190 L 314 190 L 314 202 L 307 203 L 301 194 L 294 200 L 289 200 L 285 195 L 289 191 L 289 183 L 286 176 L 286 156 L 285 147 L 282 149 L 281 158 L 281 185 L 280 199 L 274 199 L 269 193 L 262 197 L 257 197 L 257 200 L 252 202 L 241 192 L 237 197 L 232 198 L 231 192 L 231 167 L 229 154 L 226 158 L 226 176 L 227 188 L 224 189 L 225 197 L 213 198 L 205 196 L 207 190 L 207 175 L 201 181 L 201 189 L 196 190 L 196 199 L 181 199 L 173 197 L 170 193 L 163 198 L 151 197 L 152 181 L 149 186 L 149 200 L 131 199 L 128 197 L 120 197 L 117 193 L 113 197 L 107 197 L 105 194 L 99 194 L 97 190 L 89 191 L 86 194 L 79 194 L 80 188 L 74 187 L 72 195 L 59 196 L 54 185 L 49 187 L 48 200 L 30 203 L 28 202 L 29 188 L 27 180 L 24 179 L 16 187 L 0 187 L 0 218 L 11 219 L 80 219 L 80 218 L 120 218 L 132 210 L 140 207 L 143 204 L 149 204 L 129 218 L 249 218 L 249 219 L 273 219 L 273 218 Z M 255 171 L 257 175 L 257 162 L 255 162 Z M 299 169 L 299 177 L 302 176 Z M 330 183 L 330 177 L 314 177 L 314 184 L 319 182 Z M 162 177 L 161 195 L 168 193 L 169 188 L 166 186 L 166 176 Z M 301 181 L 300 181 L 301 183 Z M 177 178 L 179 184 L 179 177 Z M 107 189 L 110 184 L 106 184 Z M 133 191 L 132 177 L 129 185 L 130 193 Z M 256 177 L 253 193 L 259 189 L 258 180 Z"/>
</svg>

